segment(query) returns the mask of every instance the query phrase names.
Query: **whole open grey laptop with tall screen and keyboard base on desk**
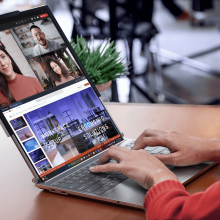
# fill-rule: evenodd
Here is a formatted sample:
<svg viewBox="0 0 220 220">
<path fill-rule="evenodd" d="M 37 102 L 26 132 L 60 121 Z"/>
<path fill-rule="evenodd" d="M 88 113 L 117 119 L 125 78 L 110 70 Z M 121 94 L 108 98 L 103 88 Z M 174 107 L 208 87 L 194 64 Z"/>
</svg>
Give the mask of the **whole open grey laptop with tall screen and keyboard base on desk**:
<svg viewBox="0 0 220 220">
<path fill-rule="evenodd" d="M 123 137 L 47 6 L 0 16 L 0 63 L 1 126 L 35 186 L 143 209 L 146 189 L 120 172 L 89 171 L 111 145 L 135 140 Z M 168 168 L 186 184 L 213 164 Z"/>
</svg>

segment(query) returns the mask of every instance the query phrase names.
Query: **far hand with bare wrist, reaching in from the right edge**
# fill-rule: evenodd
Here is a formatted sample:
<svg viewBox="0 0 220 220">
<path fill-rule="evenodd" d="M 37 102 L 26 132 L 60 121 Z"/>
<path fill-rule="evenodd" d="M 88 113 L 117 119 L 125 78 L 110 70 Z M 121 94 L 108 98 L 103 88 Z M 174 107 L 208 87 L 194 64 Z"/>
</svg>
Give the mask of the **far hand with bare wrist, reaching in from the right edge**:
<svg viewBox="0 0 220 220">
<path fill-rule="evenodd" d="M 220 161 L 220 140 L 203 139 L 177 133 L 146 129 L 135 141 L 132 150 L 146 146 L 163 146 L 170 154 L 154 154 L 165 164 L 189 166 L 205 161 Z"/>
</svg>

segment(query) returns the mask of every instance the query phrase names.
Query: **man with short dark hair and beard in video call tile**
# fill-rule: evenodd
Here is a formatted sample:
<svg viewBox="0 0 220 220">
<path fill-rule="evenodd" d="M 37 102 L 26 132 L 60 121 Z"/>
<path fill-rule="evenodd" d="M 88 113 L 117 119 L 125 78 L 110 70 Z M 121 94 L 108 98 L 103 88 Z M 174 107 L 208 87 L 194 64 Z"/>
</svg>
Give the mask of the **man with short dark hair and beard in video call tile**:
<svg viewBox="0 0 220 220">
<path fill-rule="evenodd" d="M 46 39 L 45 33 L 42 32 L 38 26 L 32 25 L 30 32 L 34 40 L 37 41 L 37 45 L 33 49 L 34 56 L 39 56 L 61 48 L 61 45 L 57 42 Z"/>
</svg>

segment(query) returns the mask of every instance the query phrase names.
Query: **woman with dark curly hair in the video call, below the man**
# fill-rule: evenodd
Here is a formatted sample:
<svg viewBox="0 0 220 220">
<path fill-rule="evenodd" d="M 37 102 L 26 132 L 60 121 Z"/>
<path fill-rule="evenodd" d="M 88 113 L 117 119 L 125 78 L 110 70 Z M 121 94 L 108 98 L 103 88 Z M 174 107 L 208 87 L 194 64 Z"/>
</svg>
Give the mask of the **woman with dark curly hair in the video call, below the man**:
<svg viewBox="0 0 220 220">
<path fill-rule="evenodd" d="M 44 57 L 44 65 L 47 74 L 55 82 L 56 86 L 74 79 L 58 59 L 46 56 Z"/>
</svg>

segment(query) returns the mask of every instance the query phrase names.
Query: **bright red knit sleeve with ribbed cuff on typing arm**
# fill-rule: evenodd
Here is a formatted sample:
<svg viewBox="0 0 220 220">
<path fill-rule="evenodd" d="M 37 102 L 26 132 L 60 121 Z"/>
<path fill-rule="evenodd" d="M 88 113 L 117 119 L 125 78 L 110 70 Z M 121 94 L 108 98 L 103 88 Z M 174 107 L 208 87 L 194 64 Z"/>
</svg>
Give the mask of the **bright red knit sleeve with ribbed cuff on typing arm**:
<svg viewBox="0 0 220 220">
<path fill-rule="evenodd" d="M 190 195 L 180 182 L 166 180 L 147 192 L 144 208 L 147 220 L 220 219 L 220 181 Z"/>
</svg>

